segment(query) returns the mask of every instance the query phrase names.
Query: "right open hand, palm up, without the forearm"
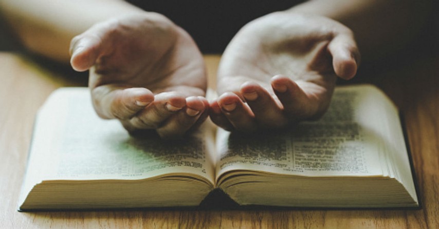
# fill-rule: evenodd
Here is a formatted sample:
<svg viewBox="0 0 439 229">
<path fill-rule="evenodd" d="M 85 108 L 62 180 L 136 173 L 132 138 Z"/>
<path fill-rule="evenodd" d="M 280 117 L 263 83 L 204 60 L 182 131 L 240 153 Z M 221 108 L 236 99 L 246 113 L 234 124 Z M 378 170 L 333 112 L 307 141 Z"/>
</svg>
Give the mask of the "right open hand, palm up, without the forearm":
<svg viewBox="0 0 439 229">
<path fill-rule="evenodd" d="M 330 18 L 276 12 L 238 32 L 221 59 L 210 117 L 253 132 L 313 120 L 326 111 L 336 76 L 354 77 L 352 31 Z"/>
</svg>

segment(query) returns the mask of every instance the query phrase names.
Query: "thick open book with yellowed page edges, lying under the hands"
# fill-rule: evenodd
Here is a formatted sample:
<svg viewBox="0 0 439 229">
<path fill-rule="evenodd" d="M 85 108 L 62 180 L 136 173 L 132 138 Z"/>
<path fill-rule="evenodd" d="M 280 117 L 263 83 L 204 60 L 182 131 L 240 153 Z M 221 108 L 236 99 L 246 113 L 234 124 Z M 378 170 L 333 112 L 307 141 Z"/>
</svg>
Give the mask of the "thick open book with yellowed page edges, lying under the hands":
<svg viewBox="0 0 439 229">
<path fill-rule="evenodd" d="M 87 88 L 53 92 L 35 121 L 19 203 L 33 209 L 239 205 L 418 206 L 393 103 L 374 86 L 338 87 L 316 122 L 242 135 L 207 122 L 193 136 L 130 136 L 102 120 Z"/>
</svg>

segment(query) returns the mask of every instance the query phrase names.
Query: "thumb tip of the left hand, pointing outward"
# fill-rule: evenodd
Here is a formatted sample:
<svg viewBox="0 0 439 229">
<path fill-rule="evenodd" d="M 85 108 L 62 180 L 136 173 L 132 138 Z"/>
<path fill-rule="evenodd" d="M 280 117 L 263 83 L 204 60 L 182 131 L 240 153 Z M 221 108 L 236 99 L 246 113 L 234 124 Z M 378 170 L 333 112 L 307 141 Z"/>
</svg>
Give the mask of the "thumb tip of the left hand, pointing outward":
<svg viewBox="0 0 439 229">
<path fill-rule="evenodd" d="M 86 71 L 100 55 L 102 41 L 97 35 L 80 34 L 70 42 L 70 65 L 76 71 Z"/>
</svg>

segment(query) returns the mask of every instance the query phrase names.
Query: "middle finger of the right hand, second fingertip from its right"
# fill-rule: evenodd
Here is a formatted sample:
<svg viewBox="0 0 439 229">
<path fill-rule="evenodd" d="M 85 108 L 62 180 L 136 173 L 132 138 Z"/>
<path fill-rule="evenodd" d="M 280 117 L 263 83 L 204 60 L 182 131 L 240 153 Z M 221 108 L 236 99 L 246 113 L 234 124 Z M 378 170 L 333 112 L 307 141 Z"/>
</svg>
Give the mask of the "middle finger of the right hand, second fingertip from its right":
<svg viewBox="0 0 439 229">
<path fill-rule="evenodd" d="M 282 127 L 288 122 L 279 104 L 259 84 L 244 83 L 241 86 L 241 94 L 254 113 L 255 121 L 263 127 Z"/>
</svg>

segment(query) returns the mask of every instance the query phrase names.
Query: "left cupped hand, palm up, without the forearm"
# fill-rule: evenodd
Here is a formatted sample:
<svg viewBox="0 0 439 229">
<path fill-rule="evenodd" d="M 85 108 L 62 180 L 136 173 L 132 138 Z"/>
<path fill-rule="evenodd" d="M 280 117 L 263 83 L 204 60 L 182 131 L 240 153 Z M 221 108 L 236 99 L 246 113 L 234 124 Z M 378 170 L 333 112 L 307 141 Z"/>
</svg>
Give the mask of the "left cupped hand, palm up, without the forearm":
<svg viewBox="0 0 439 229">
<path fill-rule="evenodd" d="M 96 112 L 129 131 L 184 135 L 207 118 L 203 56 L 189 34 L 157 13 L 96 24 L 70 45 L 71 65 L 89 69 Z"/>
</svg>

